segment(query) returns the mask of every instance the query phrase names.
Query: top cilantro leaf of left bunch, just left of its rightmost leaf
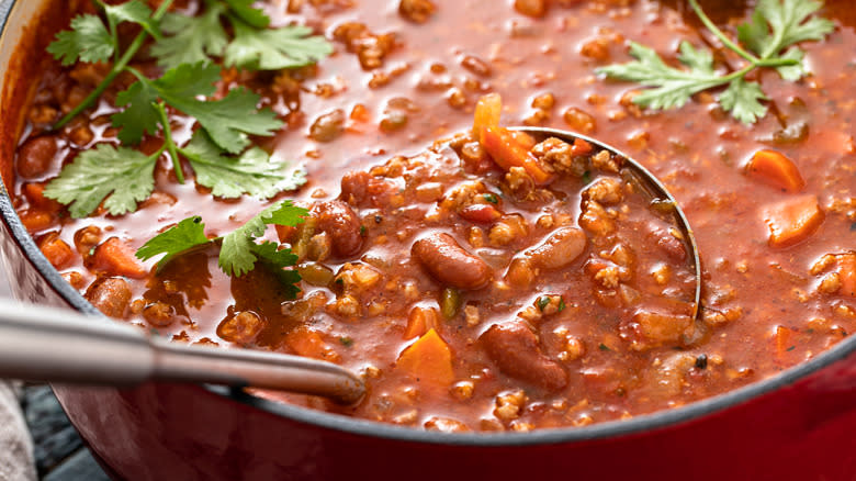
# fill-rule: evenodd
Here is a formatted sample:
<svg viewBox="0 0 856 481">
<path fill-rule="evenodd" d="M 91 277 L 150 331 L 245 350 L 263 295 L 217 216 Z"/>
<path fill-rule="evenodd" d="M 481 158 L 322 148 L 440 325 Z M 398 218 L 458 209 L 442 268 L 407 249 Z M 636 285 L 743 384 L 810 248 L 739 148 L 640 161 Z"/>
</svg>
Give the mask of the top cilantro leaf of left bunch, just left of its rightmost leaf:
<svg viewBox="0 0 856 481">
<path fill-rule="evenodd" d="M 165 36 L 151 46 L 151 55 L 164 68 L 176 68 L 182 64 L 210 61 L 219 57 L 228 44 L 219 16 L 226 11 L 222 3 L 207 2 L 205 12 L 199 16 L 178 13 L 167 14 L 161 22 Z"/>
</svg>

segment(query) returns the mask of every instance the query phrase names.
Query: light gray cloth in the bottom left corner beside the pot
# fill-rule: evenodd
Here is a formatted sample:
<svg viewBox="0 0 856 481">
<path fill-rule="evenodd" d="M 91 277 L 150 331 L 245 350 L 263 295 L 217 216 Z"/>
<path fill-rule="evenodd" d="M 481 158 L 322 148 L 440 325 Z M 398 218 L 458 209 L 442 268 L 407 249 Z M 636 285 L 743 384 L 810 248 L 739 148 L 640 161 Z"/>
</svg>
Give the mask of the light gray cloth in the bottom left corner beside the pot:
<svg viewBox="0 0 856 481">
<path fill-rule="evenodd" d="M 26 428 L 18 385 L 0 380 L 0 481 L 35 481 L 33 441 Z"/>
</svg>

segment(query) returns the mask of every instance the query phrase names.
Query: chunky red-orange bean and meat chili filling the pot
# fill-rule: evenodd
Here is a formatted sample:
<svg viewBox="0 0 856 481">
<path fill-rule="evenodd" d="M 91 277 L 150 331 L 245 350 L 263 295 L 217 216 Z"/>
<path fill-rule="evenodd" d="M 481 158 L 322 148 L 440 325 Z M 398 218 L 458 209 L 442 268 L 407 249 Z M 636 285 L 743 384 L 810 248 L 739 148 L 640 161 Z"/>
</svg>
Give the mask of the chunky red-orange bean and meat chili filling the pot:
<svg viewBox="0 0 856 481">
<path fill-rule="evenodd" d="M 43 57 L 10 189 L 16 209 L 48 260 L 105 314 L 177 342 L 340 363 L 367 381 L 358 405 L 258 394 L 426 429 L 584 426 L 680 406 L 773 376 L 856 329 L 848 2 L 827 1 L 821 13 L 836 30 L 801 45 L 811 76 L 757 74 L 771 100 L 753 125 L 708 92 L 679 110 L 640 109 L 637 87 L 595 75 L 630 60 L 630 40 L 671 58 L 676 38 L 716 46 L 684 3 L 539 5 L 264 4 L 273 25 L 308 25 L 335 46 L 300 69 L 225 69 L 218 85 L 258 92 L 285 126 L 254 141 L 307 171 L 304 187 L 279 197 L 308 209 L 306 221 L 264 234 L 297 255 L 296 299 L 263 269 L 226 276 L 214 245 L 159 271 L 156 259 L 133 257 L 185 217 L 200 215 L 207 234 L 221 235 L 270 203 L 214 198 L 187 163 L 181 184 L 160 158 L 153 195 L 121 216 L 99 209 L 72 219 L 43 195 L 80 152 L 115 143 L 110 115 L 133 78 L 50 130 L 103 78 L 103 65 Z M 703 7 L 725 30 L 747 15 L 742 2 Z M 94 11 L 67 8 L 69 20 Z M 145 55 L 134 65 L 159 75 Z M 495 122 L 476 119 L 473 128 L 489 93 L 503 98 L 503 125 L 595 136 L 664 181 L 702 256 L 697 318 L 687 247 L 620 159 Z M 170 115 L 177 137 L 189 138 L 188 118 Z M 161 143 L 146 136 L 139 149 Z"/>
</svg>

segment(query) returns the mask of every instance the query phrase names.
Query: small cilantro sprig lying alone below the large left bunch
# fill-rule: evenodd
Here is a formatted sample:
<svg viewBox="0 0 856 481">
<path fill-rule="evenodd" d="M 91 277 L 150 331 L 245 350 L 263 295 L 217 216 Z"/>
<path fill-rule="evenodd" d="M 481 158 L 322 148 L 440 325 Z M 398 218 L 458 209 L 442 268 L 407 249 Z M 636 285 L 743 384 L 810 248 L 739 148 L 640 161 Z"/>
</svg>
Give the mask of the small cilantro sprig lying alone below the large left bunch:
<svg viewBox="0 0 856 481">
<path fill-rule="evenodd" d="M 300 282 L 300 275 L 293 269 L 297 256 L 291 249 L 280 249 L 273 242 L 257 240 L 264 234 L 268 225 L 296 226 L 304 222 L 308 211 L 292 204 L 291 201 L 280 201 L 264 209 L 259 214 L 247 221 L 240 227 L 230 233 L 209 238 L 205 235 L 205 224 L 199 215 L 183 221 L 158 234 L 140 247 L 136 256 L 148 260 L 161 254 L 165 256 L 158 260 L 157 268 L 161 270 L 170 260 L 189 250 L 198 249 L 211 244 L 219 244 L 219 257 L 217 265 L 229 276 L 240 277 L 261 266 L 288 289 L 290 295 L 300 292 L 295 286 Z"/>
</svg>

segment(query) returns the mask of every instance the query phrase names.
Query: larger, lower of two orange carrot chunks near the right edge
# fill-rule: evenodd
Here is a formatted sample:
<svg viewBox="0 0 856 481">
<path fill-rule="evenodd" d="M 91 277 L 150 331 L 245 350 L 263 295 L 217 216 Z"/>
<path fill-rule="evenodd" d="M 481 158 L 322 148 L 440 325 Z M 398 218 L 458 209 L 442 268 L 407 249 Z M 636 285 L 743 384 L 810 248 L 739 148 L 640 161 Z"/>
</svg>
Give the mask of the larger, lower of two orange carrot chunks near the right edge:
<svg viewBox="0 0 856 481">
<path fill-rule="evenodd" d="M 806 240 L 823 223 L 825 215 L 816 195 L 800 195 L 764 211 L 771 247 L 789 247 Z"/>
</svg>

